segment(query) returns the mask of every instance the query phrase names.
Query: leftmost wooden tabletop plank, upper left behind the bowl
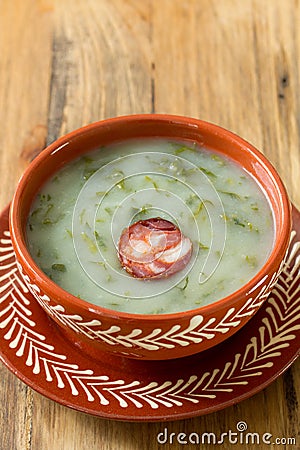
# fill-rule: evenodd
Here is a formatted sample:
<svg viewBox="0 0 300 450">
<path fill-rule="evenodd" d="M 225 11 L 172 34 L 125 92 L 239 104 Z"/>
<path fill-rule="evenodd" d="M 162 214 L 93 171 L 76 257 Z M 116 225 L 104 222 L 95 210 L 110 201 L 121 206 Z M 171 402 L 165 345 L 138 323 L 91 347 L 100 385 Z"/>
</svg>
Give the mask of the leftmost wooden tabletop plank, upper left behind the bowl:
<svg viewBox="0 0 300 450">
<path fill-rule="evenodd" d="M 28 162 L 45 145 L 51 64 L 51 3 L 1 2 L 0 164 L 3 208 Z"/>
</svg>

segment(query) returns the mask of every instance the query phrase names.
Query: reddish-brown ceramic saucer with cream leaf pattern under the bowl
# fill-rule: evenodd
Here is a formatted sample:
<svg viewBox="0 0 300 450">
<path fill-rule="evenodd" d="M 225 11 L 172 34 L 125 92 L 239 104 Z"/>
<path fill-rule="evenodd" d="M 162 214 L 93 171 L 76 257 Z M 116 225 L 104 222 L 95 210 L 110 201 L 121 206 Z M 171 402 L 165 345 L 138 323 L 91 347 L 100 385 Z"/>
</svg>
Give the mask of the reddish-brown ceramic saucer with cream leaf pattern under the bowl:
<svg viewBox="0 0 300 450">
<path fill-rule="evenodd" d="M 0 356 L 23 382 L 58 403 L 103 418 L 183 419 L 250 397 L 299 355 L 300 213 L 286 264 L 259 312 L 234 336 L 194 356 L 138 361 L 82 353 L 60 333 L 22 282 L 0 215 Z"/>
</svg>

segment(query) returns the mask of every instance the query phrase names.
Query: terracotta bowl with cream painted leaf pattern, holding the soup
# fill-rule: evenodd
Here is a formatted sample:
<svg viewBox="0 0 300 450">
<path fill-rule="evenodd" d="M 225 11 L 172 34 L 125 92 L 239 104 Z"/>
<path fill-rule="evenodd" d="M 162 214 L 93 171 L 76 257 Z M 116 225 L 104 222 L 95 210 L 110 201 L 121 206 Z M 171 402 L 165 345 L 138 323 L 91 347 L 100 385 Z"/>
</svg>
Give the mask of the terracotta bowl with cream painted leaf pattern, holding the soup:
<svg viewBox="0 0 300 450">
<path fill-rule="evenodd" d="M 83 301 L 57 286 L 36 265 L 26 246 L 31 204 L 58 168 L 96 147 L 130 138 L 192 140 L 243 166 L 264 190 L 275 222 L 271 254 L 242 288 L 189 311 L 142 315 L 117 312 Z M 118 117 L 91 124 L 46 148 L 21 178 L 10 210 L 10 232 L 21 274 L 40 306 L 78 349 L 97 358 L 102 351 L 141 359 L 179 358 L 206 350 L 243 327 L 260 308 L 283 267 L 291 232 L 286 190 L 270 162 L 233 133 L 200 120 L 170 115 Z"/>
</svg>

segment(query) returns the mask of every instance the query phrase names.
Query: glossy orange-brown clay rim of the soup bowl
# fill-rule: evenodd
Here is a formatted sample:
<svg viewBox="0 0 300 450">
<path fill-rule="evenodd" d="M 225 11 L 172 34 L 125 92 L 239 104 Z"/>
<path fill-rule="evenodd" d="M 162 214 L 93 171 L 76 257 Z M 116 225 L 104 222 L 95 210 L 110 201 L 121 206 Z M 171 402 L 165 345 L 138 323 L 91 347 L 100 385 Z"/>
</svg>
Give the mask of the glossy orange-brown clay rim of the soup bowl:
<svg viewBox="0 0 300 450">
<path fill-rule="evenodd" d="M 280 217 L 278 220 L 278 216 L 274 215 L 275 222 L 275 240 L 273 249 L 269 255 L 268 260 L 264 264 L 264 266 L 259 270 L 259 272 L 246 284 L 244 284 L 240 289 L 233 292 L 232 294 L 221 298 L 220 300 L 216 300 L 213 303 L 210 303 L 205 306 L 201 306 L 199 308 L 193 308 L 187 311 L 169 313 L 169 314 L 137 314 L 137 313 L 126 313 L 119 312 L 109 308 L 105 308 L 102 306 L 95 305 L 86 300 L 82 300 L 69 292 L 65 291 L 63 288 L 58 286 L 52 280 L 50 280 L 42 270 L 37 266 L 33 258 L 31 257 L 25 242 L 25 236 L 22 229 L 22 195 L 24 193 L 25 187 L 30 180 L 34 177 L 34 173 L 39 170 L 39 167 L 47 160 L 51 158 L 51 155 L 58 151 L 58 149 L 67 145 L 72 140 L 76 139 L 78 136 L 82 136 L 87 132 L 93 133 L 94 130 L 97 130 L 102 126 L 109 126 L 110 124 L 117 125 L 118 123 L 124 125 L 129 122 L 138 123 L 144 122 L 149 123 L 152 121 L 158 121 L 159 123 L 169 123 L 180 124 L 184 127 L 194 127 L 199 129 L 199 133 L 201 134 L 201 130 L 208 130 L 211 135 L 216 135 L 218 137 L 223 138 L 226 141 L 231 141 L 238 145 L 240 148 L 244 149 L 248 156 L 252 157 L 259 162 L 260 166 L 264 168 L 265 172 L 268 172 L 269 176 L 273 180 L 273 183 L 277 189 L 279 198 L 280 198 Z M 145 135 L 144 137 L 147 137 Z M 159 135 L 158 135 L 159 137 Z M 161 136 L 166 137 L 166 136 Z M 180 136 L 178 136 L 180 138 Z M 254 174 L 252 173 L 252 176 Z M 255 177 L 256 178 L 256 177 Z M 259 183 L 260 185 L 260 183 Z M 34 196 L 33 196 L 34 198 Z M 272 208 L 273 211 L 273 208 Z M 274 211 L 273 211 L 274 214 Z M 277 219 L 277 220 L 276 220 Z M 269 273 L 273 274 L 274 267 L 278 268 L 278 265 L 283 260 L 291 232 L 291 205 L 288 199 L 288 195 L 286 189 L 279 177 L 277 171 L 273 167 L 273 165 L 266 159 L 266 157 L 255 147 L 253 147 L 250 143 L 237 136 L 236 134 L 219 127 L 215 124 L 205 122 L 195 118 L 169 115 L 169 114 L 137 114 L 137 115 L 129 115 L 129 116 L 119 116 L 115 118 L 110 118 L 106 120 L 102 120 L 99 122 L 92 123 L 90 125 L 84 126 L 77 130 L 68 133 L 67 135 L 59 138 L 51 145 L 49 145 L 45 150 L 43 150 L 28 166 L 25 170 L 23 176 L 21 177 L 19 184 L 17 186 L 16 192 L 14 194 L 11 207 L 10 207 L 10 232 L 12 237 L 12 242 L 14 246 L 14 250 L 17 255 L 18 261 L 25 269 L 25 273 L 29 275 L 30 279 L 37 284 L 40 289 L 47 293 L 47 295 L 51 296 L 55 299 L 56 302 L 60 302 L 65 307 L 71 308 L 81 308 L 86 313 L 94 313 L 99 314 L 102 317 L 113 317 L 114 319 L 137 319 L 143 322 L 168 322 L 172 319 L 178 320 L 178 318 L 189 318 L 190 316 L 194 316 L 196 314 L 215 314 L 222 307 L 232 307 L 236 303 L 238 303 L 241 299 L 246 299 L 249 292 L 253 291 L 256 285 L 259 285 L 261 280 L 268 275 Z"/>
</svg>

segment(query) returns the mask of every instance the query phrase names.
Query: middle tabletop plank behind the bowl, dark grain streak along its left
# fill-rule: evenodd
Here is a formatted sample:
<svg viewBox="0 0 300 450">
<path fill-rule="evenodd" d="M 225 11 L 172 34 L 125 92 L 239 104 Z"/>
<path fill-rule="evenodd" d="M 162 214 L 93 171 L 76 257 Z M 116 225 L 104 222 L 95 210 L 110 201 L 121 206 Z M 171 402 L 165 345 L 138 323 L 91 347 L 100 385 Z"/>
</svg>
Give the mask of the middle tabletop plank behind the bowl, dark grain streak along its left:
<svg viewBox="0 0 300 450">
<path fill-rule="evenodd" d="M 57 2 L 48 142 L 116 115 L 149 112 L 149 2 Z"/>
</svg>

